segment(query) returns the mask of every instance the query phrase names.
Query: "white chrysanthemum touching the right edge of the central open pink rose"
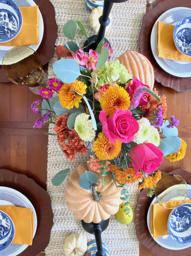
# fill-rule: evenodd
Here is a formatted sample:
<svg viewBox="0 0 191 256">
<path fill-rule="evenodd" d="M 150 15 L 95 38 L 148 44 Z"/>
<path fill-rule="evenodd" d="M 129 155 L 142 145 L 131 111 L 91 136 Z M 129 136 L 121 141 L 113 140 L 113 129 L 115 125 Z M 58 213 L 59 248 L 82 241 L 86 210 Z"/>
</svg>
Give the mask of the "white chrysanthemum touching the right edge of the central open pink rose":
<svg viewBox="0 0 191 256">
<path fill-rule="evenodd" d="M 134 142 L 137 144 L 144 143 L 150 136 L 151 124 L 147 118 L 138 120 L 139 131 L 134 135 Z"/>
</svg>

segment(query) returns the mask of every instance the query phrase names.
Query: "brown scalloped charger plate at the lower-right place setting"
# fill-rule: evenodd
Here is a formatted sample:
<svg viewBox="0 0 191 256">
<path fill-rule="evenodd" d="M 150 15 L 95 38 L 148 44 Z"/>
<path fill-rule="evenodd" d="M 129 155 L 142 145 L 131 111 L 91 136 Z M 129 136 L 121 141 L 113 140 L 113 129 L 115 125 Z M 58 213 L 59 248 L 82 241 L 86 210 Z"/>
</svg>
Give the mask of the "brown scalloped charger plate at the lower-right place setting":
<svg viewBox="0 0 191 256">
<path fill-rule="evenodd" d="M 191 173 L 184 169 L 177 169 L 170 174 L 178 174 L 186 183 L 191 185 Z M 147 196 L 147 189 L 143 189 L 139 195 L 137 209 L 135 210 L 135 226 L 137 230 L 137 238 L 141 244 L 147 247 L 153 254 L 157 256 L 188 256 L 191 253 L 190 247 L 182 250 L 169 250 L 158 243 L 152 238 L 147 227 L 147 213 L 148 208 L 153 201 L 154 196 Z"/>
</svg>

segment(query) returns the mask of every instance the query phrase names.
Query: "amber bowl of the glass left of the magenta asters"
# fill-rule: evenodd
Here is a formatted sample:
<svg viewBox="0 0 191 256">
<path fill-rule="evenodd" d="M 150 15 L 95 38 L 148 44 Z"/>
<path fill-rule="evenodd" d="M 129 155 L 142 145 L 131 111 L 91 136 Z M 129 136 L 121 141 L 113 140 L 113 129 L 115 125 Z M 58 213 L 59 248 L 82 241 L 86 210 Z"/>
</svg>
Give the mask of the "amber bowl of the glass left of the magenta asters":
<svg viewBox="0 0 191 256">
<path fill-rule="evenodd" d="M 26 46 L 10 49 L 3 58 L 2 68 L 12 83 L 21 86 L 39 87 L 45 80 L 39 55 Z"/>
</svg>

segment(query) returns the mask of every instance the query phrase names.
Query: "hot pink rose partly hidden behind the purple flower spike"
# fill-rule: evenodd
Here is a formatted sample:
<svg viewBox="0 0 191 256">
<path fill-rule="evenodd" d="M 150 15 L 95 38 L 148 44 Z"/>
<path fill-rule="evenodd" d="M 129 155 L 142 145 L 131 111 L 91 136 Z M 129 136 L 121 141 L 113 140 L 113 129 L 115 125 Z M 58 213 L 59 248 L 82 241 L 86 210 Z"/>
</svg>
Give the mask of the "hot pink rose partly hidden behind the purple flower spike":
<svg viewBox="0 0 191 256">
<path fill-rule="evenodd" d="M 148 85 L 143 84 L 141 81 L 139 81 L 137 78 L 133 79 L 133 83 L 130 84 L 128 83 L 127 88 L 125 89 L 128 93 L 129 93 L 129 97 L 130 97 L 130 101 L 133 98 L 133 94 L 135 92 L 135 90 L 139 87 L 139 86 L 146 86 L 150 89 L 150 87 Z M 145 96 L 148 95 L 147 93 L 144 93 L 139 101 L 139 105 L 138 106 L 144 106 L 147 104 L 148 100 L 145 99 Z"/>
</svg>

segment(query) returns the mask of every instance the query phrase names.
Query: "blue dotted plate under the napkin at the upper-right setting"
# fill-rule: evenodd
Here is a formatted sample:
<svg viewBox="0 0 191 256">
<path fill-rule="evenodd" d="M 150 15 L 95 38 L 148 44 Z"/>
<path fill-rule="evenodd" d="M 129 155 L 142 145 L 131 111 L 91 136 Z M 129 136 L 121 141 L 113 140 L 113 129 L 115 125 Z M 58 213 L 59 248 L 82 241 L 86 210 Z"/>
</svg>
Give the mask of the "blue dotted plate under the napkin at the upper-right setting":
<svg viewBox="0 0 191 256">
<path fill-rule="evenodd" d="M 171 13 L 169 13 L 162 22 L 176 25 L 177 22 L 179 22 L 181 19 L 184 19 L 185 17 L 191 16 L 191 9 L 188 8 L 182 8 L 179 10 L 175 10 Z M 188 61 L 174 61 L 169 59 L 163 59 L 164 62 L 171 67 L 174 70 L 180 71 L 180 72 L 191 72 L 191 62 Z"/>
</svg>

